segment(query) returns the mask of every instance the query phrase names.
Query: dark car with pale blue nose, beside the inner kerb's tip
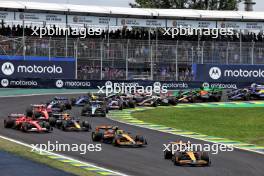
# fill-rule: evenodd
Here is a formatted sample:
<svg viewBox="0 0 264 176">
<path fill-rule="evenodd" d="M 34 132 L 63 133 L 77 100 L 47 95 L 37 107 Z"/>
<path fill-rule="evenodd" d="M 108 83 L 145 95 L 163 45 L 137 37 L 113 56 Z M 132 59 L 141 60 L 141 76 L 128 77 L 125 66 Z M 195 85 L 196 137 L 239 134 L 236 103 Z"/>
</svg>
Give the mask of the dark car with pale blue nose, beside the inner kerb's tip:
<svg viewBox="0 0 264 176">
<path fill-rule="evenodd" d="M 106 117 L 108 109 L 104 101 L 90 101 L 81 111 L 82 116 L 88 117 Z"/>
</svg>

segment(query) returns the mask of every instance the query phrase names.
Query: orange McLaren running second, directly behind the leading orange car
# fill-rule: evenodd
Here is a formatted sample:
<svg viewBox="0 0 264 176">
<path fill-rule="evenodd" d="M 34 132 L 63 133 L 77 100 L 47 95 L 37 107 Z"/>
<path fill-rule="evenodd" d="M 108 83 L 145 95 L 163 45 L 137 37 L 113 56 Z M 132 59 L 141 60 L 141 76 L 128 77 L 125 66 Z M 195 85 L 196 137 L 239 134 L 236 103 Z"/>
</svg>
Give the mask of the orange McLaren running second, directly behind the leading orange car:
<svg viewBox="0 0 264 176">
<path fill-rule="evenodd" d="M 92 132 L 92 140 L 112 143 L 115 146 L 142 147 L 147 145 L 147 140 L 143 136 L 131 136 L 117 126 L 97 126 Z"/>
</svg>

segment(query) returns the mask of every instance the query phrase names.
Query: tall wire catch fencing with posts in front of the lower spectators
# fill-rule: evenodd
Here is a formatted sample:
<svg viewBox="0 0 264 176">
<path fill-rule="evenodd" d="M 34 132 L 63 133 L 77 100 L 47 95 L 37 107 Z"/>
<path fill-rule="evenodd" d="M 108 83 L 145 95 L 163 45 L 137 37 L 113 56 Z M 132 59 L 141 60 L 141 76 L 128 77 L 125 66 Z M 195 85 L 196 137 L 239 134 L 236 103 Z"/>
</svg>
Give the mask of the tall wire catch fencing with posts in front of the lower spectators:
<svg viewBox="0 0 264 176">
<path fill-rule="evenodd" d="M 0 37 L 0 55 L 74 57 L 81 80 L 192 81 L 193 64 L 264 64 L 264 43 Z"/>
</svg>

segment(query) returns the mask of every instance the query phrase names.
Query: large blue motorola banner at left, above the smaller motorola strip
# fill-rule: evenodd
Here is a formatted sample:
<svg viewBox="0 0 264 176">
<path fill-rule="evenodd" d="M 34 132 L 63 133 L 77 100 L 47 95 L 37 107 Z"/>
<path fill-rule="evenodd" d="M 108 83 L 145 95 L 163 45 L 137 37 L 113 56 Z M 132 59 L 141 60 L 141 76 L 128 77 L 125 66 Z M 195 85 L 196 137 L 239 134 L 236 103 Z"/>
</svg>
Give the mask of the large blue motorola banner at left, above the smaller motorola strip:
<svg viewBox="0 0 264 176">
<path fill-rule="evenodd" d="M 13 56 L 7 59 L 0 56 L 0 77 L 7 78 L 45 78 L 74 79 L 74 58 Z"/>
</svg>

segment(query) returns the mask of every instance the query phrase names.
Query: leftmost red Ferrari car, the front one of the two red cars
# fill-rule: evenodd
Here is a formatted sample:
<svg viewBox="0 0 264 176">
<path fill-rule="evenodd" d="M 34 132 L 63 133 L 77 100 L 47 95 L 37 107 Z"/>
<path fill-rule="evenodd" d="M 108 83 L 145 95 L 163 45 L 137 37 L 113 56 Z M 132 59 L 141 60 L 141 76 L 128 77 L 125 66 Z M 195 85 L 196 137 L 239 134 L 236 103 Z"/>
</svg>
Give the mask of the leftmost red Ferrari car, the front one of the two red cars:
<svg viewBox="0 0 264 176">
<path fill-rule="evenodd" d="M 46 121 L 38 121 L 24 114 L 11 114 L 4 120 L 5 128 L 14 128 L 23 132 L 50 132 L 52 128 Z"/>
</svg>

